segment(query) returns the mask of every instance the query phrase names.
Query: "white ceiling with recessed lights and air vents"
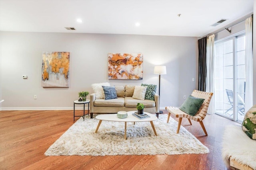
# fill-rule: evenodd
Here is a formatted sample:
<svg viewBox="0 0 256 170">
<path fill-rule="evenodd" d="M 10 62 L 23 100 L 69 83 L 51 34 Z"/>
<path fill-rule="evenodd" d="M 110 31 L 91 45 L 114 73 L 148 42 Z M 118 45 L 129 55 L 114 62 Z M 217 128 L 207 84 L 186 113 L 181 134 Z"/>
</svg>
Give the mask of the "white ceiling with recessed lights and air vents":
<svg viewBox="0 0 256 170">
<path fill-rule="evenodd" d="M 251 14 L 253 3 L 253 0 L 0 0 L 0 30 L 202 37 Z M 76 21 L 78 18 L 81 23 Z M 210 26 L 221 19 L 228 20 Z M 135 26 L 137 22 L 140 26 Z"/>
</svg>

